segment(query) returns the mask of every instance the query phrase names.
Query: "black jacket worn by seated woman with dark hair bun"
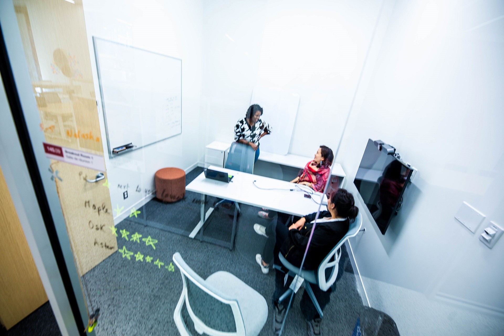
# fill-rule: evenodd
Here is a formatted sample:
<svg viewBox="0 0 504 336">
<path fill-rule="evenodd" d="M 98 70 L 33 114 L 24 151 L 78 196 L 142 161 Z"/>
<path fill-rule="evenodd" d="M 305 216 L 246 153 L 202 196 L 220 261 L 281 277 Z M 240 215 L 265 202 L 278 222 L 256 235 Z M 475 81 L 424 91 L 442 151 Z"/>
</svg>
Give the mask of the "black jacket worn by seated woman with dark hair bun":
<svg viewBox="0 0 504 336">
<path fill-rule="evenodd" d="M 313 227 L 313 224 L 310 224 L 310 222 L 315 220 L 316 215 L 317 213 L 313 213 L 304 216 L 306 223 L 300 230 L 289 230 L 289 236 L 285 239 L 280 248 L 280 252 L 283 256 L 294 266 L 299 267 L 301 265 L 304 251 L 308 244 L 308 238 Z M 329 211 L 321 212 L 319 218 L 323 219 L 324 217 L 331 217 L 331 213 Z M 322 260 L 324 260 L 327 254 L 331 252 L 334 246 L 336 246 L 341 238 L 348 232 L 349 225 L 350 221 L 348 219 L 317 221 L 317 226 L 311 238 L 306 260 L 304 260 L 304 270 L 317 270 Z"/>
</svg>

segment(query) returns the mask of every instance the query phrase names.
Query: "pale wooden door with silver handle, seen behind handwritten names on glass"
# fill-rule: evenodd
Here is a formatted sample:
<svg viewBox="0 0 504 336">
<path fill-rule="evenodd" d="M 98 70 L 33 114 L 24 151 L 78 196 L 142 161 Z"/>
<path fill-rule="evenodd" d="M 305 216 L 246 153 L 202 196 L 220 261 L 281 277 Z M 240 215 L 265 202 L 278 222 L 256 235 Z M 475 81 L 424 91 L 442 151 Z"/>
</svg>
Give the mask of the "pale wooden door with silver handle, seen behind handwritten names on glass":
<svg viewBox="0 0 504 336">
<path fill-rule="evenodd" d="M 25 117 L 40 118 L 47 143 L 103 156 L 82 1 L 14 0 L 14 5 L 39 113 Z M 98 171 L 59 161 L 41 169 L 49 170 L 46 178 L 53 174 L 84 275 L 117 250 L 107 179 L 86 182 Z"/>
</svg>

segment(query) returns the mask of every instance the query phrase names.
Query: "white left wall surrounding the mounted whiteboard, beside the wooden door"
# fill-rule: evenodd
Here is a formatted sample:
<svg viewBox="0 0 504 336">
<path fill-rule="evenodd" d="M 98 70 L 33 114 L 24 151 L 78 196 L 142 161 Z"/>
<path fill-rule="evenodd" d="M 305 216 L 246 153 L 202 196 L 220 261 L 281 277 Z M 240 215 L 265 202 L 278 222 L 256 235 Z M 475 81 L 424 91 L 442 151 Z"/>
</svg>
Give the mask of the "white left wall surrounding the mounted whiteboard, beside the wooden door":
<svg viewBox="0 0 504 336">
<path fill-rule="evenodd" d="M 203 2 L 86 0 L 83 5 L 92 60 L 92 36 L 182 59 L 182 134 L 113 159 L 105 158 L 112 207 L 124 207 L 119 216 L 114 211 L 117 223 L 130 214 L 132 207 L 140 208 L 152 197 L 150 191 L 154 190 L 158 169 L 190 168 L 203 152 L 199 149 Z M 102 137 L 106 139 L 95 62 L 92 67 Z M 104 153 L 108 153 L 103 143 Z M 128 198 L 123 200 L 126 188 Z"/>
</svg>

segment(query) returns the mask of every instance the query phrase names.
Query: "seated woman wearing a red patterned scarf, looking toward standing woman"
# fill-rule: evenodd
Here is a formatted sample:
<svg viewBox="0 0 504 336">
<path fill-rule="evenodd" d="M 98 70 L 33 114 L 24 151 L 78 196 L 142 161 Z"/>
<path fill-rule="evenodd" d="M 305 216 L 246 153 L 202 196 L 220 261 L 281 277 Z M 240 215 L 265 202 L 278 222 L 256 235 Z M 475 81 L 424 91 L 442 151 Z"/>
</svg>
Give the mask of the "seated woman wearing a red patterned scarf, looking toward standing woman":
<svg viewBox="0 0 504 336">
<path fill-rule="evenodd" d="M 291 182 L 304 184 L 315 191 L 323 192 L 327 179 L 331 174 L 333 159 L 333 151 L 327 146 L 321 146 L 313 157 L 313 160 L 306 163 L 302 172 Z M 260 211 L 258 216 L 264 219 L 270 219 L 275 216 L 275 213 L 269 213 L 265 210 Z"/>
</svg>

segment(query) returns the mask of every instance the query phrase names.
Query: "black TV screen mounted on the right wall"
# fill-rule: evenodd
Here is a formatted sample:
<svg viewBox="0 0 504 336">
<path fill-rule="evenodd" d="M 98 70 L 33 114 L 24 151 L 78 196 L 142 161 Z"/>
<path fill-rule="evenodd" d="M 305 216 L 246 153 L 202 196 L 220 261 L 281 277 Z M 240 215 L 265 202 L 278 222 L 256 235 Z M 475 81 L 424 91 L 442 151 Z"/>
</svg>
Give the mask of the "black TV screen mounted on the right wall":
<svg viewBox="0 0 504 336">
<path fill-rule="evenodd" d="M 401 207 L 412 171 L 404 162 L 368 140 L 353 183 L 382 234 Z"/>
</svg>

